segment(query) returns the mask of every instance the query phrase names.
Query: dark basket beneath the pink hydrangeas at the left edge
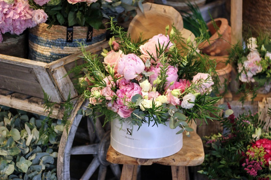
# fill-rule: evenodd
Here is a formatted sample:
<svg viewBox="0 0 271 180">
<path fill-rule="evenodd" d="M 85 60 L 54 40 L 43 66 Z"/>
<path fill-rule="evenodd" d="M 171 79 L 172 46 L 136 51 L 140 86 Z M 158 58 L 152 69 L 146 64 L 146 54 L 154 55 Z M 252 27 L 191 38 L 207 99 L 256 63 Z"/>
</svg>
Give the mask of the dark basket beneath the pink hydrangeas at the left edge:
<svg viewBox="0 0 271 180">
<path fill-rule="evenodd" d="M 0 43 L 0 54 L 27 58 L 26 43 L 26 34 L 21 34 L 15 38 L 3 35 L 3 41 Z"/>
</svg>

